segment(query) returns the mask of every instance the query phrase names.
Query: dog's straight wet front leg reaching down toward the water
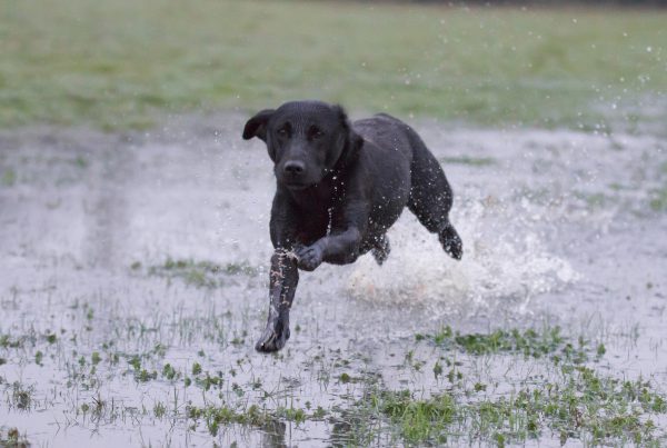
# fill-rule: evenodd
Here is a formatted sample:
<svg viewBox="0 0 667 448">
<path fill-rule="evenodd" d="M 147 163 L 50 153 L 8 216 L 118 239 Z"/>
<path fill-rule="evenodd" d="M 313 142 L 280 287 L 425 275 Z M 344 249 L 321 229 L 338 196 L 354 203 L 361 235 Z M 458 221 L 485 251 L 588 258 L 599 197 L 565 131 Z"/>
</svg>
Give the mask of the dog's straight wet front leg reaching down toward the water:
<svg viewBox="0 0 667 448">
<path fill-rule="evenodd" d="M 299 282 L 297 260 L 285 249 L 276 249 L 269 272 L 269 318 L 257 341 L 258 351 L 277 351 L 289 339 L 289 309 Z"/>
</svg>

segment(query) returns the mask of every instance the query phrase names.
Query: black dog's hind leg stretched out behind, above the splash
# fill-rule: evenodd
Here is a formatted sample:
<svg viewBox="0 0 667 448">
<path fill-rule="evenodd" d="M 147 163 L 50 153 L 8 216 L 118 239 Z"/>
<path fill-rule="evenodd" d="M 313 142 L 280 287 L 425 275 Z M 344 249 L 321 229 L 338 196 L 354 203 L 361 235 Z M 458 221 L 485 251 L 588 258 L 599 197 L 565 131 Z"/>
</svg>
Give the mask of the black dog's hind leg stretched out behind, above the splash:
<svg viewBox="0 0 667 448">
<path fill-rule="evenodd" d="M 408 129 L 412 147 L 410 166 L 410 199 L 408 208 L 431 233 L 438 233 L 442 249 L 457 260 L 464 255 L 464 243 L 449 222 L 452 193 L 445 171 L 421 138 Z"/>
</svg>

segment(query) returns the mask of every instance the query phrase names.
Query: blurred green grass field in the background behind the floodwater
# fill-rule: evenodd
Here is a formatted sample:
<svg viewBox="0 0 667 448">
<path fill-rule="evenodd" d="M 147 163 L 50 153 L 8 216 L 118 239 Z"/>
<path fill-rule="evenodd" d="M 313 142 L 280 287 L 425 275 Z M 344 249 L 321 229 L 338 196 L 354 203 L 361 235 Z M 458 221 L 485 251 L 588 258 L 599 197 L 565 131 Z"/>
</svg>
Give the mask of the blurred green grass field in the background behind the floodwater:
<svg viewBox="0 0 667 448">
<path fill-rule="evenodd" d="M 0 127 L 145 128 L 165 113 L 320 98 L 606 129 L 648 119 L 648 98 L 665 102 L 665 22 L 666 11 L 609 8 L 12 1 L 0 12 Z"/>
</svg>

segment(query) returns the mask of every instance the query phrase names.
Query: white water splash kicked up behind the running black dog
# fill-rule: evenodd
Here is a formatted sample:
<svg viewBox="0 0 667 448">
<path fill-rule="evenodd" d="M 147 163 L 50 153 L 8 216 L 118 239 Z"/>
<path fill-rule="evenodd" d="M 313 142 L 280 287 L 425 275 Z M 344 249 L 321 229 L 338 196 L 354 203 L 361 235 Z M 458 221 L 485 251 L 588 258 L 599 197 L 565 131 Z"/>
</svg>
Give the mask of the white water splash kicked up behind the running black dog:
<svg viewBox="0 0 667 448">
<path fill-rule="evenodd" d="M 469 202 L 455 219 L 465 243 L 464 259 L 455 261 L 436 236 L 406 213 L 389 232 L 392 253 L 386 263 L 380 267 L 362 257 L 346 291 L 377 303 L 487 308 L 497 301 L 525 303 L 575 281 L 570 263 L 550 252 L 544 237 L 516 216 L 516 210 Z M 498 227 L 507 231 L 499 236 Z"/>
</svg>

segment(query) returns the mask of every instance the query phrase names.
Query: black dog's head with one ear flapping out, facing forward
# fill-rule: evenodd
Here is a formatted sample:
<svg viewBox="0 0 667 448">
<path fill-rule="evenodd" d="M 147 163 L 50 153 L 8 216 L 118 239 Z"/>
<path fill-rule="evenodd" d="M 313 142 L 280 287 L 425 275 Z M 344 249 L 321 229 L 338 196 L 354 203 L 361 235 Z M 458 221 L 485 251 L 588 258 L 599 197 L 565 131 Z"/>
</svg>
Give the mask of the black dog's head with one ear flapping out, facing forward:
<svg viewBox="0 0 667 448">
<path fill-rule="evenodd" d="M 319 101 L 286 102 L 258 112 L 246 123 L 243 139 L 267 143 L 278 181 L 303 190 L 351 161 L 361 143 L 340 106 Z"/>
</svg>

